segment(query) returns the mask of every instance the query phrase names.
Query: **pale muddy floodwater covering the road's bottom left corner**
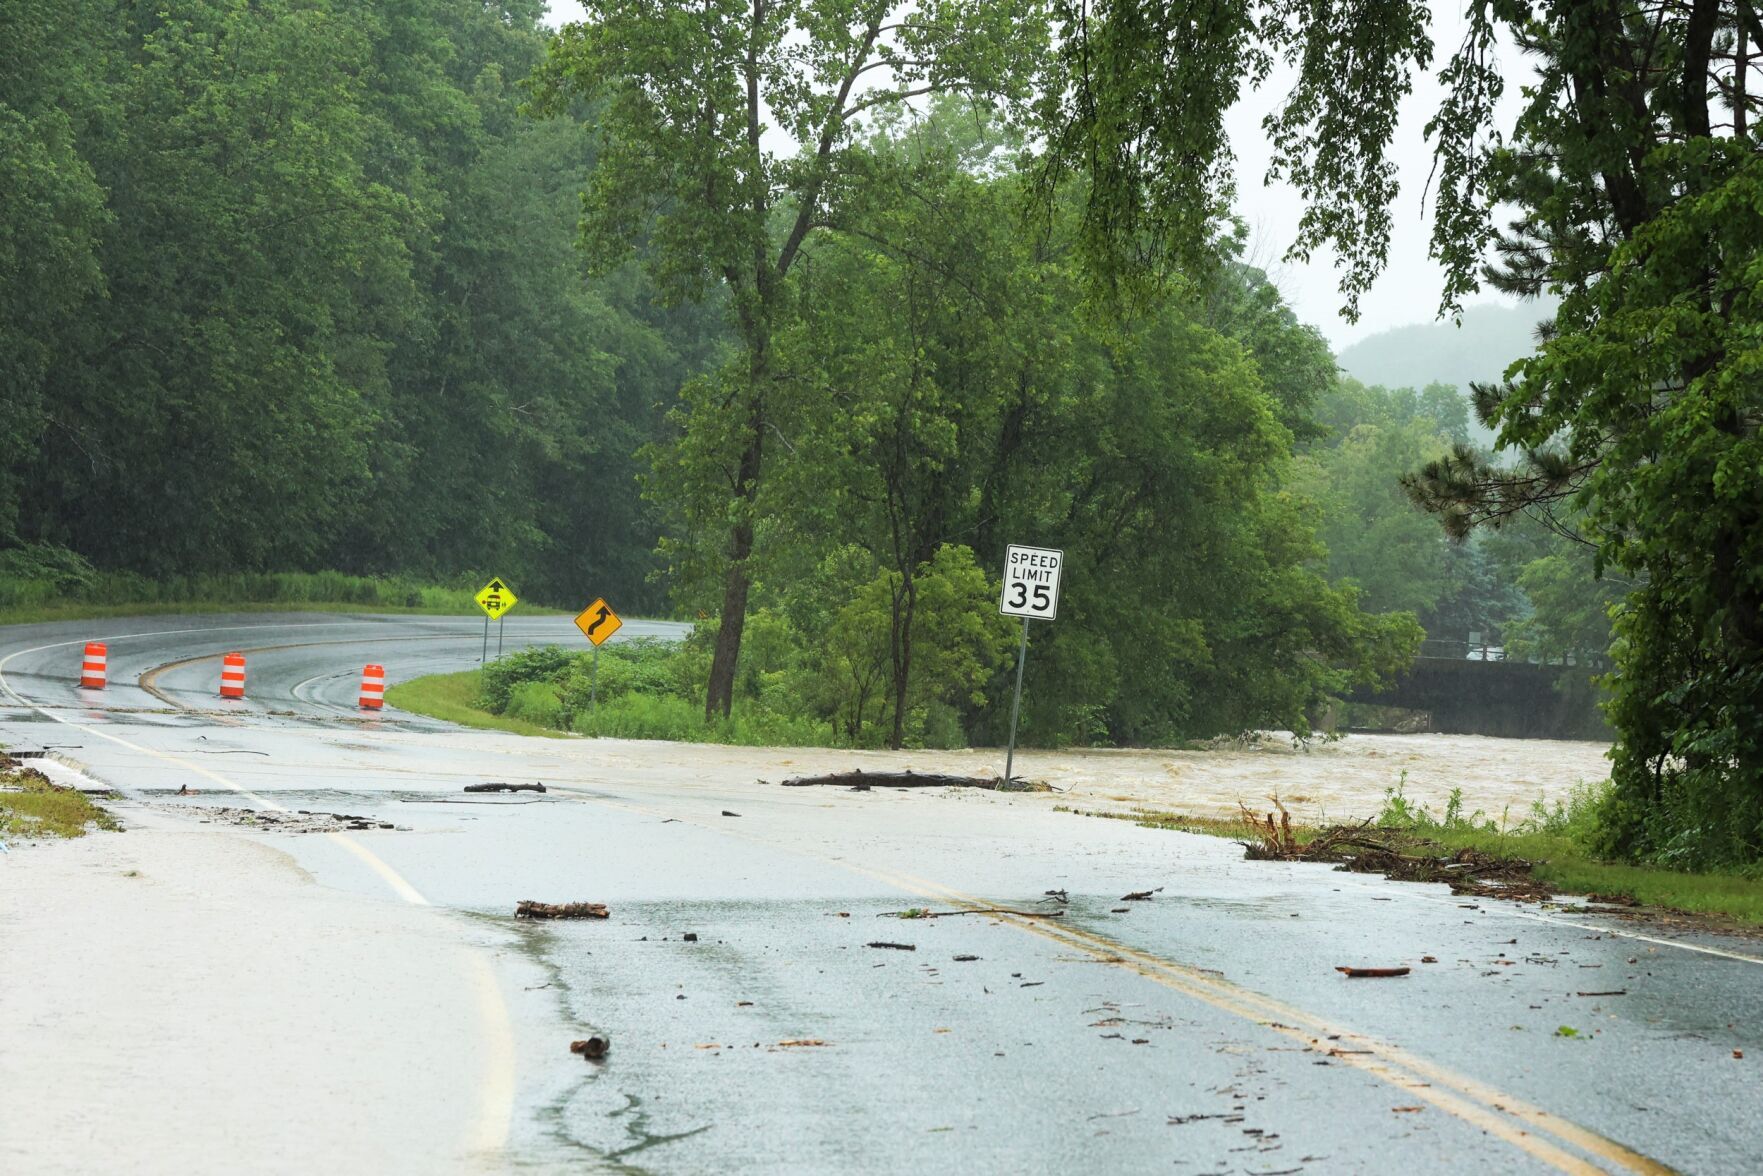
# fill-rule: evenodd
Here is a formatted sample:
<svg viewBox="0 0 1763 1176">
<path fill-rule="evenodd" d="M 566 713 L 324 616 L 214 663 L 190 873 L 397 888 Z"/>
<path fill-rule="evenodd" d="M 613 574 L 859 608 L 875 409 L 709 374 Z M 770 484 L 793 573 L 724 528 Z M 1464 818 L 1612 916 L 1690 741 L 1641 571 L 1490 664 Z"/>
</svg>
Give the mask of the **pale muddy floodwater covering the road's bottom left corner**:
<svg viewBox="0 0 1763 1176">
<path fill-rule="evenodd" d="M 0 1171 L 495 1165 L 451 915 L 138 829 L 0 855 Z"/>
</svg>

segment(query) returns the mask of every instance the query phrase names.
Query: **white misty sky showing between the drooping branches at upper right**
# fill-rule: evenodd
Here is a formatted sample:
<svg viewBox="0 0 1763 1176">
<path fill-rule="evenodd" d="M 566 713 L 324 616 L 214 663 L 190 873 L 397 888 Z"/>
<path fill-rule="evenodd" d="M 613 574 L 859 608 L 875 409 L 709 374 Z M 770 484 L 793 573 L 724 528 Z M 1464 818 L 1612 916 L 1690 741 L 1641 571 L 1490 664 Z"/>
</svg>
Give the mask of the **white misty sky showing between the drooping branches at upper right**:
<svg viewBox="0 0 1763 1176">
<path fill-rule="evenodd" d="M 582 19 L 582 5 L 571 0 L 552 0 L 554 25 Z M 1435 65 L 1462 41 L 1463 18 L 1453 5 L 1440 5 L 1433 16 Z M 1289 78 L 1289 76 L 1287 76 Z M 1252 261 L 1268 270 L 1298 317 L 1313 323 L 1338 351 L 1391 326 L 1432 321 L 1444 286 L 1440 270 L 1426 256 L 1430 234 L 1430 208 L 1421 206 L 1426 173 L 1432 169 L 1432 150 L 1421 129 L 1439 104 L 1439 88 L 1432 78 L 1416 78 L 1414 93 L 1403 102 L 1396 141 L 1391 152 L 1402 167 L 1402 194 L 1393 210 L 1395 234 L 1389 243 L 1389 266 L 1377 284 L 1359 300 L 1361 317 L 1347 323 L 1340 317 L 1342 303 L 1336 289 L 1333 256 L 1317 252 L 1308 264 L 1285 264 L 1280 256 L 1292 243 L 1301 208 L 1298 196 L 1285 183 L 1264 187 L 1261 178 L 1268 169 L 1268 148 L 1261 134 L 1261 118 L 1285 95 L 1287 81 L 1275 74 L 1268 85 L 1245 95 L 1225 118 L 1231 145 L 1238 157 L 1238 213 L 1250 227 Z M 1509 125 L 1509 106 L 1516 85 L 1507 86 L 1507 111 L 1502 123 Z M 1474 301 L 1507 301 L 1491 291 L 1470 298 Z"/>
</svg>

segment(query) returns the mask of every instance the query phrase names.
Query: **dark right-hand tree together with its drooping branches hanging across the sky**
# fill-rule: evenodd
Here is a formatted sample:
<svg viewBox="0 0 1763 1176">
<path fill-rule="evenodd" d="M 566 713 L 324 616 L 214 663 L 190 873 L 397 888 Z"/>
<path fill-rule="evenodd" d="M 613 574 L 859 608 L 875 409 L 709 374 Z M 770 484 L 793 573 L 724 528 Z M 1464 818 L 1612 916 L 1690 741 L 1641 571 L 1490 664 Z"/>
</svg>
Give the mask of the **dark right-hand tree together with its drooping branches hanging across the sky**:
<svg viewBox="0 0 1763 1176">
<path fill-rule="evenodd" d="M 1324 243 L 1342 252 L 1352 312 L 1389 240 L 1395 99 L 1433 56 L 1425 7 L 1241 0 L 1208 5 L 1202 28 L 1186 25 L 1183 9 L 1141 0 L 1061 9 L 1047 159 L 1049 171 L 1088 166 L 1091 252 L 1118 270 L 1146 243 L 1171 256 L 1213 224 L 1227 194 L 1218 118 L 1245 76 L 1266 78 L 1283 56 L 1296 83 L 1268 130 L 1273 171 L 1306 199 L 1294 252 Z M 1562 301 L 1539 353 L 1514 363 L 1506 384 L 1477 391 L 1479 414 L 1518 460 L 1453 453 L 1426 467 L 1414 492 L 1454 532 L 1525 513 L 1566 529 L 1566 515 L 1578 515 L 1599 566 L 1636 584 L 1617 619 L 1611 848 L 1671 862 L 1756 860 L 1758 5 L 1469 0 L 1465 14 L 1469 32 L 1439 69 L 1446 97 L 1428 127 L 1442 305 L 1453 309 L 1484 277 L 1488 245 L 1499 250 L 1486 273 L 1497 287 Z M 1146 53 L 1174 37 L 1192 51 Z M 1495 53 L 1502 39 L 1536 71 L 1509 129 L 1493 125 L 1507 81 Z M 1507 206 L 1516 217 L 1495 231 L 1491 213 Z"/>
</svg>

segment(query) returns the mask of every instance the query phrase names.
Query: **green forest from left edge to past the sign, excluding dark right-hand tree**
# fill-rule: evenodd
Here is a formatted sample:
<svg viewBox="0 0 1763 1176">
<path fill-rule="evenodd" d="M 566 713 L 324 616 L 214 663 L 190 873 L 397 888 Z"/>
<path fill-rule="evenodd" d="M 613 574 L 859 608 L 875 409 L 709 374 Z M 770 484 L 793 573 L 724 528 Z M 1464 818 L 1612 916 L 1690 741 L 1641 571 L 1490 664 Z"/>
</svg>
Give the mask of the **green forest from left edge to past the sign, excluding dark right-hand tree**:
<svg viewBox="0 0 1763 1176">
<path fill-rule="evenodd" d="M 996 58 L 963 65 L 989 97 L 882 86 L 822 169 L 763 152 L 772 203 L 718 203 L 746 162 L 617 90 L 744 18 L 684 46 L 603 18 L 596 42 L 538 4 L 9 5 L 14 573 L 494 569 L 719 617 L 712 712 L 896 746 L 998 735 L 1007 541 L 1070 557 L 1040 741 L 1308 730 L 1405 665 L 1416 615 L 1462 642 L 1529 612 L 1521 561 L 1490 571 L 1398 488 L 1462 439 L 1460 395 L 1340 379 L 1232 238 L 1097 309 L 1077 197 L 1026 231 Z M 769 85 L 769 118 L 827 116 Z"/>
</svg>

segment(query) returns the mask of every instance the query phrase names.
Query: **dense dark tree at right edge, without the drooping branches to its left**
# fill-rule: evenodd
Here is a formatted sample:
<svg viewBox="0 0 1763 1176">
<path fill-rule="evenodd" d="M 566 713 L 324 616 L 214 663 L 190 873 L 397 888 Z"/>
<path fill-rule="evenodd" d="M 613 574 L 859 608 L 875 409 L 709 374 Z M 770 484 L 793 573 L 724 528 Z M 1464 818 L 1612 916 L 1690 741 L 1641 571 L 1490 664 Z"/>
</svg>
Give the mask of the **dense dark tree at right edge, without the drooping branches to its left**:
<svg viewBox="0 0 1763 1176">
<path fill-rule="evenodd" d="M 1414 480 L 1453 529 L 1574 511 L 1617 607 L 1610 848 L 1763 857 L 1763 152 L 1747 2 L 1550 5 L 1548 63 L 1488 196 L 1518 208 L 1491 280 L 1562 294 L 1479 409 L 1518 460 Z M 1692 510 L 1685 510 L 1694 504 Z M 1536 568 L 1541 585 L 1558 568 Z"/>
</svg>

